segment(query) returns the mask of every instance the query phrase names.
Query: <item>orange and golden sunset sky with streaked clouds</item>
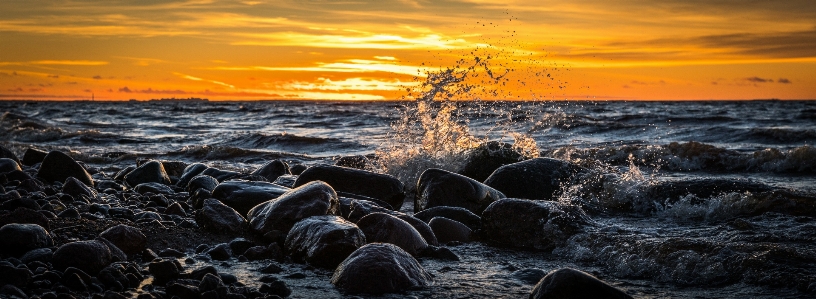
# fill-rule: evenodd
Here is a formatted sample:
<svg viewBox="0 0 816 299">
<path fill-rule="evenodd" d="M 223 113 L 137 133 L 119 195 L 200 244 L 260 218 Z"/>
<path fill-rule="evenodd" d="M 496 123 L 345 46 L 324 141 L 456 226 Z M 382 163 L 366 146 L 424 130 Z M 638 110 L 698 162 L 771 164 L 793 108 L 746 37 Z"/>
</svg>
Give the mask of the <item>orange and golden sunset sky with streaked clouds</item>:
<svg viewBox="0 0 816 299">
<path fill-rule="evenodd" d="M 400 99 L 477 58 L 485 99 L 816 99 L 816 5 L 0 1 L 0 100 Z"/>
</svg>

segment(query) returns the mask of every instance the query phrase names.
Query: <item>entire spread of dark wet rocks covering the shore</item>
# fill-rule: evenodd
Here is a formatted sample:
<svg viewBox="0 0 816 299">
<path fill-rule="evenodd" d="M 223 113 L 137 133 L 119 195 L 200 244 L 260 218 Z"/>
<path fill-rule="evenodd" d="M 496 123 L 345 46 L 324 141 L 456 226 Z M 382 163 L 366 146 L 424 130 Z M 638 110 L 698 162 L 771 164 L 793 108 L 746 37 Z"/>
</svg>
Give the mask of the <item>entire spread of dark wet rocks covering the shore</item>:
<svg viewBox="0 0 816 299">
<path fill-rule="evenodd" d="M 458 261 L 449 246 L 484 241 L 551 250 L 591 225 L 579 207 L 550 201 L 585 169 L 546 158 L 508 164 L 507 152 L 495 153 L 475 155 L 471 164 L 480 166 L 466 168 L 483 182 L 426 170 L 410 215 L 400 212 L 402 182 L 351 167 L 274 160 L 239 173 L 147 160 L 108 175 L 59 151 L 29 149 L 20 161 L 0 147 L 0 294 L 209 299 L 292 292 L 274 276 L 250 288 L 211 266 L 185 269 L 179 259 L 190 248 L 150 248 L 150 227 L 234 237 L 197 246 L 199 259 L 307 263 L 333 270 L 331 283 L 343 293 L 382 294 L 432 285 L 417 259 Z M 66 219 L 115 225 L 98 235 L 66 237 L 64 228 L 51 227 Z M 270 273 L 280 271 L 274 262 Z M 542 278 L 531 298 L 575 298 L 573 291 L 626 297 L 586 273 L 563 269 Z"/>
</svg>

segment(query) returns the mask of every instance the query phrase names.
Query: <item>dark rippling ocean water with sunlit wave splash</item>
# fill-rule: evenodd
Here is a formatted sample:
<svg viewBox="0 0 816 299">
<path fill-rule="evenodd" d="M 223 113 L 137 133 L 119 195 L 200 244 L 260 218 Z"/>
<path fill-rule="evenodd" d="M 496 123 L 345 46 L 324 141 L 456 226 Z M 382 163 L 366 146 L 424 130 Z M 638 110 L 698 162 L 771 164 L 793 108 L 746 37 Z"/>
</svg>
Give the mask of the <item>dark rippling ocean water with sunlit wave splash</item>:
<svg viewBox="0 0 816 299">
<path fill-rule="evenodd" d="M 816 101 L 0 101 L 0 113 L 0 143 L 21 157 L 62 150 L 106 174 L 141 158 L 248 172 L 366 155 L 410 186 L 502 141 L 596 173 L 556 199 L 593 225 L 524 264 L 592 269 L 637 297 L 816 296 Z M 701 181 L 778 192 L 649 193 Z"/>
</svg>

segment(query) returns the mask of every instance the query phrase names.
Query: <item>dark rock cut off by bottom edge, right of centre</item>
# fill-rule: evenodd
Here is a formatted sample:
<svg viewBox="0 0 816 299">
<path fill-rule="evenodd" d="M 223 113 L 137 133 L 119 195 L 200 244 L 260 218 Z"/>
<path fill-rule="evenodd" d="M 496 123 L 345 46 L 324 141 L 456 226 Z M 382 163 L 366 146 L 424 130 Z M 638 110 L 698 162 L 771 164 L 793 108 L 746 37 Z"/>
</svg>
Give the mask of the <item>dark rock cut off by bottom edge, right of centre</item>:
<svg viewBox="0 0 816 299">
<path fill-rule="evenodd" d="M 536 284 L 530 299 L 610 298 L 631 299 L 623 291 L 587 273 L 562 268 L 550 272 Z"/>
</svg>

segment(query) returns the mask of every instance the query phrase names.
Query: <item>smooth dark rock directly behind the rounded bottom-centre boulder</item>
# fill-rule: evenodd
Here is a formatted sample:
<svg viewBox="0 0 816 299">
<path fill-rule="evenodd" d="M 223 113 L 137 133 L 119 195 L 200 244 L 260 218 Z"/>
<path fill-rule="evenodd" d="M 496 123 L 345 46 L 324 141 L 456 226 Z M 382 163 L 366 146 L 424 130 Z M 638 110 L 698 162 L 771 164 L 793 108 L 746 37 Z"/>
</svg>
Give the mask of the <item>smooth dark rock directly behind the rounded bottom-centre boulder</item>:
<svg viewBox="0 0 816 299">
<path fill-rule="evenodd" d="M 428 247 L 428 243 L 413 226 L 388 214 L 368 214 L 357 222 L 357 226 L 365 234 L 368 243 L 391 243 L 411 255 L 417 255 Z"/>
</svg>

